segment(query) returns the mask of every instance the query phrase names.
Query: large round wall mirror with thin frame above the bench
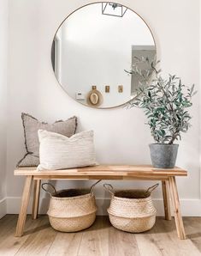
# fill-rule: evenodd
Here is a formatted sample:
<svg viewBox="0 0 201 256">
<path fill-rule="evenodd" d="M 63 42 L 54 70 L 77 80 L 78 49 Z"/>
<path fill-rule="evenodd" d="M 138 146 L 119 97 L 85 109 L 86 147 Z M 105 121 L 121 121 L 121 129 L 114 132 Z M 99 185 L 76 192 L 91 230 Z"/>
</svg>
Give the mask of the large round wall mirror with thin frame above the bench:
<svg viewBox="0 0 201 256">
<path fill-rule="evenodd" d="M 136 58 L 156 58 L 150 28 L 119 3 L 92 3 L 74 11 L 56 31 L 53 70 L 62 88 L 86 106 L 118 107 L 131 101 L 139 76 Z"/>
</svg>

